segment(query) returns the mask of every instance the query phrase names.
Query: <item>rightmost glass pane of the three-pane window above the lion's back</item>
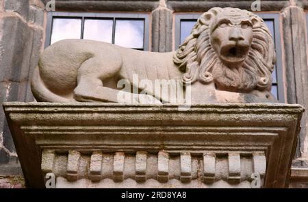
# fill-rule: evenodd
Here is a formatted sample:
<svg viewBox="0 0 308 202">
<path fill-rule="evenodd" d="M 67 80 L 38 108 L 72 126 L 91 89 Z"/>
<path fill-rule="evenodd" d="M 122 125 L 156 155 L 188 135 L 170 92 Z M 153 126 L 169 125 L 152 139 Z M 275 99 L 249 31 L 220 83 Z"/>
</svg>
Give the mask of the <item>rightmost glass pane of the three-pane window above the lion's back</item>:
<svg viewBox="0 0 308 202">
<path fill-rule="evenodd" d="M 144 21 L 116 20 L 114 43 L 121 47 L 143 49 Z"/>
</svg>

